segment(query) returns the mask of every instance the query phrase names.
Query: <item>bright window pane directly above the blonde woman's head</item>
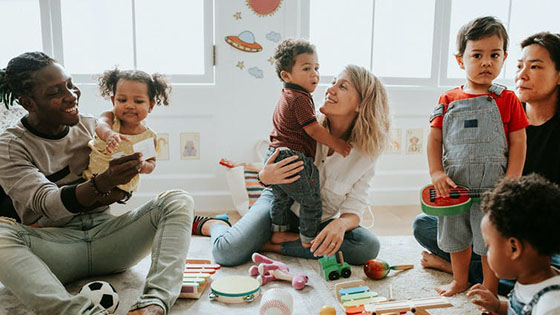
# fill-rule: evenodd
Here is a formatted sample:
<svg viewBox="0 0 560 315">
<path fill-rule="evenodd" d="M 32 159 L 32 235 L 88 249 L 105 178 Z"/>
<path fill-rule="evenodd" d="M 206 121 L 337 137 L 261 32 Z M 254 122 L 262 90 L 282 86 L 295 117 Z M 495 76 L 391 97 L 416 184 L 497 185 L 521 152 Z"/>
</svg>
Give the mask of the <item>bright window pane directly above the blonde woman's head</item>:
<svg viewBox="0 0 560 315">
<path fill-rule="evenodd" d="M 337 75 L 350 63 L 371 65 L 371 0 L 311 0 L 310 40 L 321 75 Z"/>
</svg>

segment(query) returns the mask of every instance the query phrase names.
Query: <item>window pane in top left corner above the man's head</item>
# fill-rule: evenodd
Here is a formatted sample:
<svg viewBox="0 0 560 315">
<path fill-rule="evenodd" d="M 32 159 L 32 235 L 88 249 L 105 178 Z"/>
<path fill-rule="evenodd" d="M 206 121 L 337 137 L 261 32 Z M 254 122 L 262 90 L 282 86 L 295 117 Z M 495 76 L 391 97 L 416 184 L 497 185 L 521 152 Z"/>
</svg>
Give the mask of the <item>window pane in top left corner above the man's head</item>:
<svg viewBox="0 0 560 315">
<path fill-rule="evenodd" d="M 38 0 L 0 0 L 0 12 L 0 68 L 24 52 L 43 50 Z"/>
</svg>

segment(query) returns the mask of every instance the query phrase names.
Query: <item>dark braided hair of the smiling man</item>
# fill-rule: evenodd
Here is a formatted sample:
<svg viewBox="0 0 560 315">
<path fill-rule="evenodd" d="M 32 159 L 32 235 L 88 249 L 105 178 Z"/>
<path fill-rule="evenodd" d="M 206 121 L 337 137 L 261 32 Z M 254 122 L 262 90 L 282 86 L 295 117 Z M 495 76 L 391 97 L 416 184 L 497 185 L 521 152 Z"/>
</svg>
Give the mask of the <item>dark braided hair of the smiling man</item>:
<svg viewBox="0 0 560 315">
<path fill-rule="evenodd" d="M 0 102 L 6 108 L 22 96 L 30 96 L 33 89 L 33 73 L 56 61 L 40 51 L 26 52 L 12 58 L 5 69 L 0 69 Z"/>
</svg>

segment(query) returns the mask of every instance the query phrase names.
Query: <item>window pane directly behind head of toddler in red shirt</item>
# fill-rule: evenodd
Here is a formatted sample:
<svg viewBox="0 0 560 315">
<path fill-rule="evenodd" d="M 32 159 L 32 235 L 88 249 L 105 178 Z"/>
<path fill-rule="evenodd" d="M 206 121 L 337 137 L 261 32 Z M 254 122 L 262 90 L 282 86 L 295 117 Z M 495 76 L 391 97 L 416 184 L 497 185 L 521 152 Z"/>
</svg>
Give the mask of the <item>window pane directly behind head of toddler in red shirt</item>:
<svg viewBox="0 0 560 315">
<path fill-rule="evenodd" d="M 451 23 L 449 28 L 449 51 L 447 52 L 447 77 L 464 78 L 465 72 L 459 69 L 455 60 L 457 52 L 457 32 L 467 22 L 480 16 L 495 16 L 506 29 L 508 27 L 509 0 L 453 0 L 451 4 Z M 503 71 L 503 70 L 502 70 Z"/>
</svg>

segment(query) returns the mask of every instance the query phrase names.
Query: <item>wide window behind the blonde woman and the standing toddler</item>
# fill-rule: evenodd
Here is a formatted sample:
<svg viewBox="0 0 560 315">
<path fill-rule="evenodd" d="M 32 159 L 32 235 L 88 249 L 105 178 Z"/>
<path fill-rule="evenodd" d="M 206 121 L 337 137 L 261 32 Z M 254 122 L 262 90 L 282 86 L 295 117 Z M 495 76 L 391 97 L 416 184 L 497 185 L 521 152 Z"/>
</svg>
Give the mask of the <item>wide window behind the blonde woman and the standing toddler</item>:
<svg viewBox="0 0 560 315">
<path fill-rule="evenodd" d="M 559 33 L 556 0 L 310 0 L 309 39 L 317 46 L 322 82 L 347 63 L 369 68 L 387 84 L 455 86 L 459 28 L 495 16 L 508 30 L 508 59 L 498 82 L 512 86 L 520 42 L 540 31 Z M 306 14 L 306 13 L 304 13 Z"/>
</svg>

